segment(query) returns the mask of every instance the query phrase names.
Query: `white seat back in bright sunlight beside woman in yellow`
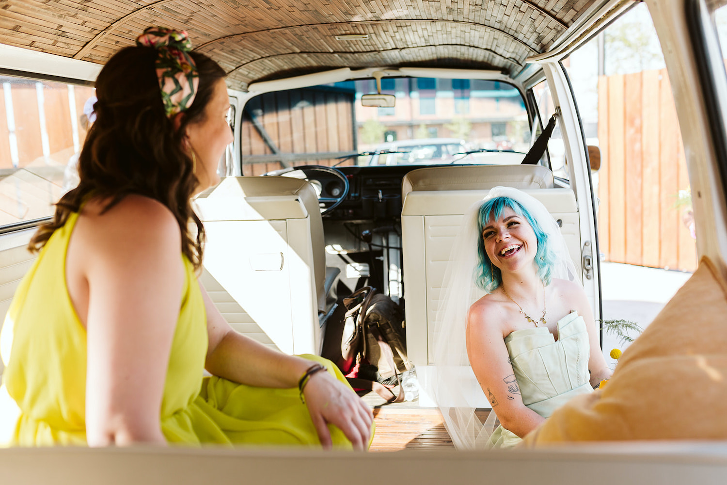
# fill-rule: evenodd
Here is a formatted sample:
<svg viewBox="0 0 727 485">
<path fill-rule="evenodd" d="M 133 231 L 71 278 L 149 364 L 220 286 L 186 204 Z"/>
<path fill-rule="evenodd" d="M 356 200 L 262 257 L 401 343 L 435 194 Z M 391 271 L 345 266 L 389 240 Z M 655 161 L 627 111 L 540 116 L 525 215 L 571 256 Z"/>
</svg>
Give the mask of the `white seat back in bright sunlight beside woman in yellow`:
<svg viewBox="0 0 727 485">
<path fill-rule="evenodd" d="M 318 353 L 326 265 L 313 186 L 228 177 L 196 204 L 206 231 L 201 279 L 222 315 L 285 353 Z"/>
</svg>

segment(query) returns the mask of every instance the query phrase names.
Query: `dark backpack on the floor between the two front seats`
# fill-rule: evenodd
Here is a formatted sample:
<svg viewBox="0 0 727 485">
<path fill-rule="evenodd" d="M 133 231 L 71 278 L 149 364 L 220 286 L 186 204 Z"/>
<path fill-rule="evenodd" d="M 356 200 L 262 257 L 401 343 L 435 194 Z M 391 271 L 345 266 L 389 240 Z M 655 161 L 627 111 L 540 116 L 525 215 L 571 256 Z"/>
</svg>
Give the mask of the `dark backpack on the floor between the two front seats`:
<svg viewBox="0 0 727 485">
<path fill-rule="evenodd" d="M 364 286 L 342 299 L 326 323 L 322 356 L 334 361 L 356 390 L 374 390 L 401 402 L 401 373 L 413 368 L 406 357 L 403 311 L 390 297 Z M 399 385 L 398 396 L 391 388 Z"/>
</svg>

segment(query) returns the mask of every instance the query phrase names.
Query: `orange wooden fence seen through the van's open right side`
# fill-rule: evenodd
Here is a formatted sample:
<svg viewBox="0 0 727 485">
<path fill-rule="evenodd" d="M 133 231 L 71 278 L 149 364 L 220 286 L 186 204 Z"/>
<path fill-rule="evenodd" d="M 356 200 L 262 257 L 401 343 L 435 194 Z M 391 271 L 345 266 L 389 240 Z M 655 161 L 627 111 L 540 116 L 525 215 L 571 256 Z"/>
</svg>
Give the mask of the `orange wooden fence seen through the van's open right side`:
<svg viewBox="0 0 727 485">
<path fill-rule="evenodd" d="M 689 187 L 666 69 L 598 80 L 598 231 L 606 261 L 693 271 L 696 246 L 677 207 Z"/>
</svg>

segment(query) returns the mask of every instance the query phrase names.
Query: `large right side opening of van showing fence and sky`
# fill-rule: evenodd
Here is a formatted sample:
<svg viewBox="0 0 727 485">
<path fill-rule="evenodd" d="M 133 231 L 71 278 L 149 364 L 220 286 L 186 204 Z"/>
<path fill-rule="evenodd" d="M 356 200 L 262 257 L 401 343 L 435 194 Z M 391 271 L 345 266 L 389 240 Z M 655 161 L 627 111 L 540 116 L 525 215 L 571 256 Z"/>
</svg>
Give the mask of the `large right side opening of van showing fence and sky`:
<svg viewBox="0 0 727 485">
<path fill-rule="evenodd" d="M 686 158 L 670 79 L 646 4 L 563 60 L 585 141 L 598 145 L 603 349 L 629 345 L 696 268 Z M 627 284 L 629 283 L 629 284 Z M 624 305 L 624 301 L 629 301 Z M 637 303 L 638 302 L 638 303 Z M 628 332 L 627 332 L 628 330 Z"/>
</svg>

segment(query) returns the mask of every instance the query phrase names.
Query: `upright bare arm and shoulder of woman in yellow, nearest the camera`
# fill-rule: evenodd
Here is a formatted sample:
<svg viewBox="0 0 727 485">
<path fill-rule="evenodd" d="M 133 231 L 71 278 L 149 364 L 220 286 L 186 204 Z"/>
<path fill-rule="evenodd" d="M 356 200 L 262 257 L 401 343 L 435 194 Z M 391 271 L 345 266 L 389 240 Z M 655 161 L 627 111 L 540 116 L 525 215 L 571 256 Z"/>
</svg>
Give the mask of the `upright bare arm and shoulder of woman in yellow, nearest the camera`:
<svg viewBox="0 0 727 485">
<path fill-rule="evenodd" d="M 184 283 L 179 225 L 142 196 L 86 212 L 67 274 L 87 282 L 87 311 L 76 305 L 87 328 L 87 441 L 164 444 L 161 399 Z"/>
</svg>

